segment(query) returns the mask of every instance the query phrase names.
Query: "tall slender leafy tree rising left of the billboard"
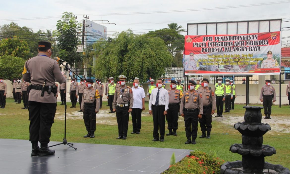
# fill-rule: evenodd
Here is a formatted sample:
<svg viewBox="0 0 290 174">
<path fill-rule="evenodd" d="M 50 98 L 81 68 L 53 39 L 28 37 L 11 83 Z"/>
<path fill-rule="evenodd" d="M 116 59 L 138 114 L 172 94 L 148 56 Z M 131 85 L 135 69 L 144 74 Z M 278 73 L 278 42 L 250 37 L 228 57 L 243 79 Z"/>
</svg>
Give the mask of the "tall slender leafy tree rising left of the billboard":
<svg viewBox="0 0 290 174">
<path fill-rule="evenodd" d="M 77 45 L 81 44 L 79 41 L 81 24 L 76 22 L 73 13 L 64 12 L 56 26 L 59 33 L 57 36 L 59 56 L 67 61 L 70 66 L 73 66 L 81 58 L 77 53 Z"/>
</svg>

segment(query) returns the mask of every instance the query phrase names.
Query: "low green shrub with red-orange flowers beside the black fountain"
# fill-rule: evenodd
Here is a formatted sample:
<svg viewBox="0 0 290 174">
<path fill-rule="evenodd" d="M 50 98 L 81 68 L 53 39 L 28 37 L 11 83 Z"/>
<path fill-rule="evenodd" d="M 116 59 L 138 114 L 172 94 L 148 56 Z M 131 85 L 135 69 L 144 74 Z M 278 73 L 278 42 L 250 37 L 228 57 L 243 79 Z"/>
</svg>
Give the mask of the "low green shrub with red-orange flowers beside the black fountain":
<svg viewBox="0 0 290 174">
<path fill-rule="evenodd" d="M 170 168 L 162 173 L 219 174 L 220 166 L 224 163 L 224 160 L 214 156 L 215 155 L 206 154 L 201 151 L 193 151 L 190 152 L 190 155 L 187 155 L 175 165 L 171 165 Z"/>
</svg>

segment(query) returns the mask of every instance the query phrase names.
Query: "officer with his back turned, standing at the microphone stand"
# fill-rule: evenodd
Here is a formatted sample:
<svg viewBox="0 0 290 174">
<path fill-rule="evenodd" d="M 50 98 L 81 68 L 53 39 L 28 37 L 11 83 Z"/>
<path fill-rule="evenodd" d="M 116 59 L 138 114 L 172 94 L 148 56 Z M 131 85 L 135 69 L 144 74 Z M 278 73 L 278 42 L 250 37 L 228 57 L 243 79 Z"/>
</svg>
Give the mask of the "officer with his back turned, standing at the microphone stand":
<svg viewBox="0 0 290 174">
<path fill-rule="evenodd" d="M 38 54 L 26 61 L 23 68 L 23 79 L 31 83 L 29 93 L 29 141 L 32 143 L 31 156 L 55 154 L 48 148 L 50 128 L 54 123 L 56 110 L 55 78 L 59 83 L 66 81 L 57 61 L 50 58 L 50 42 L 38 42 Z M 40 143 L 40 149 L 38 146 Z"/>
</svg>

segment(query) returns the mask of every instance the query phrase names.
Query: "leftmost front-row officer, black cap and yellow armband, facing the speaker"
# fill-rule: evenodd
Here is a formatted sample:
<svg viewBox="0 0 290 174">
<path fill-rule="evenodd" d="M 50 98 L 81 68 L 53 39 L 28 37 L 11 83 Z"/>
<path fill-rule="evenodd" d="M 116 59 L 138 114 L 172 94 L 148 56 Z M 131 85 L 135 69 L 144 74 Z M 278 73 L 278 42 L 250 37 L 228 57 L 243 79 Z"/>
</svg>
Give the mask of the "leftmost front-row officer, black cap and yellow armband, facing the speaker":
<svg viewBox="0 0 290 174">
<path fill-rule="evenodd" d="M 96 131 L 96 113 L 100 110 L 100 94 L 99 91 L 93 88 L 94 81 L 92 79 L 86 80 L 86 86 L 84 89 L 81 110 L 84 112 L 84 123 L 88 134 L 84 138 L 95 138 Z"/>
</svg>

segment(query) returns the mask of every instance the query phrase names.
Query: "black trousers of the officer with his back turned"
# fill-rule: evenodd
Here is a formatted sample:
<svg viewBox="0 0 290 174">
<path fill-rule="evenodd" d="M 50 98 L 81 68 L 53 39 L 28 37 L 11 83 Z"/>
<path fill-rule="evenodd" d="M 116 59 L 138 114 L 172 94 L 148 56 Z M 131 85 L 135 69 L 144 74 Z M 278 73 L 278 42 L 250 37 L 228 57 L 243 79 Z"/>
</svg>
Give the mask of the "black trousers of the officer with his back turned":
<svg viewBox="0 0 290 174">
<path fill-rule="evenodd" d="M 56 104 L 29 101 L 29 141 L 39 141 L 41 147 L 47 147 L 50 128 L 54 123 Z"/>
</svg>

